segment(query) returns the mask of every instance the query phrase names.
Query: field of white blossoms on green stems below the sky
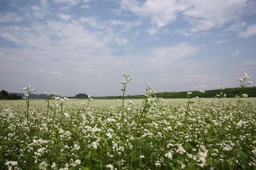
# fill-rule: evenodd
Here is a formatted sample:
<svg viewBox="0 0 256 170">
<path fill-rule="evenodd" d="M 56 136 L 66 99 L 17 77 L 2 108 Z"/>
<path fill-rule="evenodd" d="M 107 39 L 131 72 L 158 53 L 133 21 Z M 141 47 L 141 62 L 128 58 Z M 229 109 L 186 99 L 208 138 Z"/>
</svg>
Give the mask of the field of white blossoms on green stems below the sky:
<svg viewBox="0 0 256 170">
<path fill-rule="evenodd" d="M 123 97 L 129 75 L 123 75 Z M 0 102 L 1 169 L 256 169 L 256 99 Z M 204 94 L 204 91 L 200 91 Z M 173 102 L 176 101 L 176 102 Z M 177 102 L 178 101 L 178 102 Z M 108 101 L 106 101 L 108 102 Z"/>
</svg>

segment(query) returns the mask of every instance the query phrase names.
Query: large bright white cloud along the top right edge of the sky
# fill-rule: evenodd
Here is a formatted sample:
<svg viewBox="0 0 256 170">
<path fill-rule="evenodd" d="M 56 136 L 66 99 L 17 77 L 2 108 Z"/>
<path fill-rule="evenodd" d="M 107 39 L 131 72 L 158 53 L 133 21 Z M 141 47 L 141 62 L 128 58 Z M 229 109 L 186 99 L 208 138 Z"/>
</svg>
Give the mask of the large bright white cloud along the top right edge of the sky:
<svg viewBox="0 0 256 170">
<path fill-rule="evenodd" d="M 172 21 L 182 19 L 189 25 L 190 32 L 222 27 L 243 15 L 256 12 L 256 3 L 253 0 L 148 0 L 143 3 L 121 0 L 121 7 L 125 11 L 150 19 L 157 27 L 164 27 Z"/>
</svg>

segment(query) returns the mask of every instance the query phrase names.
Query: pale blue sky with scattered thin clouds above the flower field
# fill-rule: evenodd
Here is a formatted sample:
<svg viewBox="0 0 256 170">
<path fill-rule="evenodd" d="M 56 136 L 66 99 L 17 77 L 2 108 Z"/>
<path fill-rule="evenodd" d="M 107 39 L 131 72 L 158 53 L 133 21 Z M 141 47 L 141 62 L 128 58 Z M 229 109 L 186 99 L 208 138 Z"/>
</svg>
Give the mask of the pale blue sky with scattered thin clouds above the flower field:
<svg viewBox="0 0 256 170">
<path fill-rule="evenodd" d="M 62 96 L 256 83 L 255 0 L 0 0 L 0 89 Z"/>
</svg>

